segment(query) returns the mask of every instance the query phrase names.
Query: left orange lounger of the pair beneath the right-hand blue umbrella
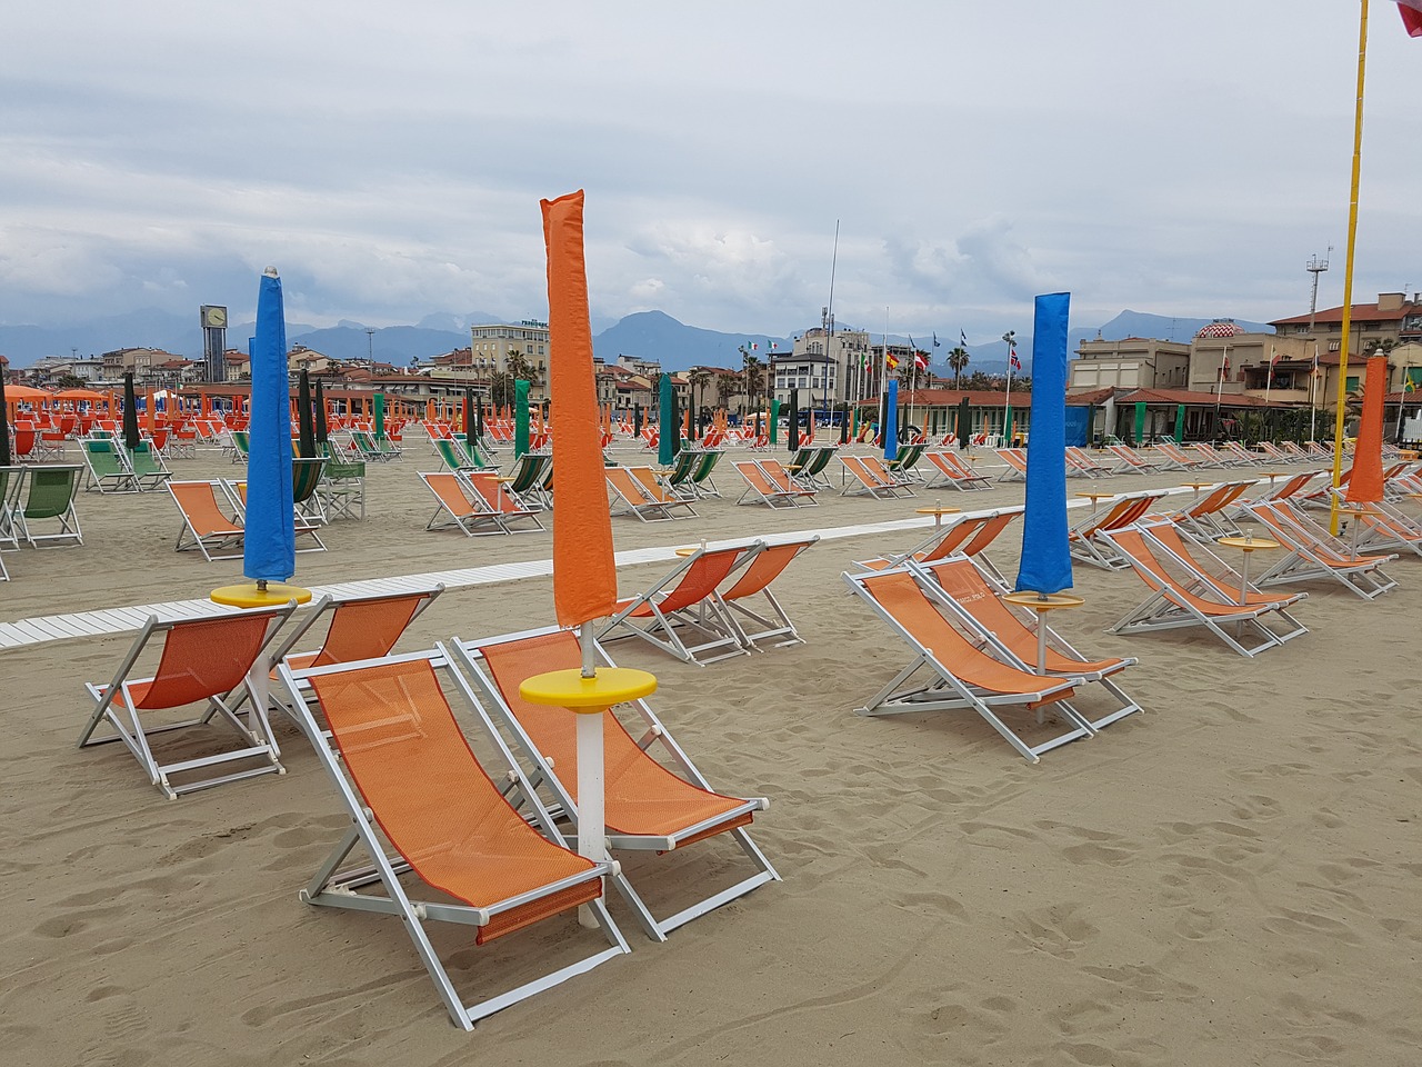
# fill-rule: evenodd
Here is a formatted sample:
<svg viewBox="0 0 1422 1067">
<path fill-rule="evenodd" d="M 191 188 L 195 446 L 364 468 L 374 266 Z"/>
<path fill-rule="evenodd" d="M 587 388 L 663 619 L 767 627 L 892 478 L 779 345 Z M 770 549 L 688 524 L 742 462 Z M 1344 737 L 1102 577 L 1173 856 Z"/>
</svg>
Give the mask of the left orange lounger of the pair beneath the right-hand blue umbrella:
<svg viewBox="0 0 1422 1067">
<path fill-rule="evenodd" d="M 1078 684 L 1075 679 L 1042 674 L 1035 667 L 1024 670 L 974 644 L 944 617 L 940 606 L 948 598 L 931 582 L 920 580 L 907 568 L 843 578 L 913 652 L 909 664 L 856 708 L 857 714 L 975 711 L 1028 763 L 1039 763 L 1044 753 L 1096 733 L 1068 703 Z M 914 681 L 920 670 L 927 679 Z M 998 716 L 1005 707 L 1047 706 L 1058 710 L 1068 728 L 1038 744 L 1028 744 Z"/>
</svg>

